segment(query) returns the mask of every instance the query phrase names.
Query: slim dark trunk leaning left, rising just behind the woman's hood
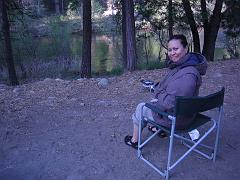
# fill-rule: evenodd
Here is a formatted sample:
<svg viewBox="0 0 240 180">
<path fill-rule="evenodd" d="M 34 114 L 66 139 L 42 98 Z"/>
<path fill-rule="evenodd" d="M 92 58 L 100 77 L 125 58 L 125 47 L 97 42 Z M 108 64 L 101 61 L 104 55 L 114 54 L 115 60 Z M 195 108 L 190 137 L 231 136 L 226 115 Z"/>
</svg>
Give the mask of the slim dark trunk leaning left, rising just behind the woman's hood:
<svg viewBox="0 0 240 180">
<path fill-rule="evenodd" d="M 200 48 L 200 39 L 199 39 L 199 34 L 197 30 L 197 25 L 194 20 L 193 12 L 191 9 L 191 5 L 189 0 L 182 0 L 183 3 L 183 8 L 186 13 L 188 23 L 190 25 L 191 31 L 192 31 L 192 36 L 193 36 L 193 44 L 194 44 L 194 52 L 201 52 Z"/>
</svg>

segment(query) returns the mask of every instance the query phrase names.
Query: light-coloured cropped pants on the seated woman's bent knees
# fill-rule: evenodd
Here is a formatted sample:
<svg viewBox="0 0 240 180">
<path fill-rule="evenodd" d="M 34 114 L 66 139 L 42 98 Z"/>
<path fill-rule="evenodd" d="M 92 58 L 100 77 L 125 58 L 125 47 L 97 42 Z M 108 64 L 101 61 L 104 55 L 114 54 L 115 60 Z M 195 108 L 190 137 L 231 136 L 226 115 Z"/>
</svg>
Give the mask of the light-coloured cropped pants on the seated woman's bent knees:
<svg viewBox="0 0 240 180">
<path fill-rule="evenodd" d="M 144 105 L 145 105 L 145 103 L 139 103 L 137 105 L 135 113 L 133 113 L 133 115 L 132 115 L 133 124 L 139 125 L 139 123 L 141 122 L 142 128 L 146 127 L 147 123 L 146 123 L 146 121 L 144 121 L 144 119 L 141 119 L 141 113 L 142 113 L 143 117 L 154 121 L 151 109 L 145 107 Z"/>
</svg>

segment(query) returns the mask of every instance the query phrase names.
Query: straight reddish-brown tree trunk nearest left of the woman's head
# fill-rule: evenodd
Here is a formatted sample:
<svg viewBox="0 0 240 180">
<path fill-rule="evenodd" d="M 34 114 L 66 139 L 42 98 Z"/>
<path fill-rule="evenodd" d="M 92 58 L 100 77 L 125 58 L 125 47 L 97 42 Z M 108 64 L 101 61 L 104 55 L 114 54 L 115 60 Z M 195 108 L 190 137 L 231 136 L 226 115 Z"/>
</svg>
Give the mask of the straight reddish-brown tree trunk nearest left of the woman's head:
<svg viewBox="0 0 240 180">
<path fill-rule="evenodd" d="M 127 69 L 134 71 L 136 68 L 136 39 L 133 0 L 124 0 L 126 15 L 126 48 Z"/>
</svg>

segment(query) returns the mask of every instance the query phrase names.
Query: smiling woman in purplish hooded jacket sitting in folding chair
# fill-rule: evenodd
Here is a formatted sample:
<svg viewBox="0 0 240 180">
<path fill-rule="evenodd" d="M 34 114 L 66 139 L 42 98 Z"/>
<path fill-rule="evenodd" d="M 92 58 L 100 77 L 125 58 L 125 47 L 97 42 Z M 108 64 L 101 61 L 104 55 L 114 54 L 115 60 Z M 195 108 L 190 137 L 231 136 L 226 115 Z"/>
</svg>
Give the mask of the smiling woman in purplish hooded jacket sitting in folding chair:
<svg viewBox="0 0 240 180">
<path fill-rule="evenodd" d="M 174 35 L 168 41 L 168 67 L 170 71 L 154 90 L 155 99 L 151 101 L 165 112 L 173 112 L 175 96 L 197 96 L 202 83 L 201 76 L 206 73 L 206 58 L 198 53 L 188 53 L 188 43 L 184 35 Z M 133 135 L 125 137 L 125 143 L 135 149 L 138 146 L 138 125 L 146 127 L 141 114 L 162 126 L 171 127 L 171 121 L 138 104 L 133 119 Z M 176 123 L 176 129 L 188 126 L 193 117 L 182 118 Z M 149 128 L 153 131 L 153 127 Z M 164 136 L 164 134 L 162 134 Z"/>
</svg>

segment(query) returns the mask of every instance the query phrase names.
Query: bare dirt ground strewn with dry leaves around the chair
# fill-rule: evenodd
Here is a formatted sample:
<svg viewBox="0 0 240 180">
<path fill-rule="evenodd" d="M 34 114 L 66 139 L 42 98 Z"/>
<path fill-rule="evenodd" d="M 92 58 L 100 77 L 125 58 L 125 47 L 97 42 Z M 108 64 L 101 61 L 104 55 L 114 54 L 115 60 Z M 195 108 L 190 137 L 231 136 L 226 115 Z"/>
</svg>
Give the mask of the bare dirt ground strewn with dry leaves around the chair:
<svg viewBox="0 0 240 180">
<path fill-rule="evenodd" d="M 125 73 L 109 78 L 106 87 L 98 85 L 99 79 L 1 84 L 0 179 L 162 179 L 123 139 L 132 131 L 136 105 L 151 98 L 139 81 L 161 80 L 165 73 L 166 69 Z M 192 153 L 173 169 L 171 179 L 240 178 L 240 60 L 209 63 L 200 94 L 222 86 L 225 109 L 216 162 Z M 143 133 L 150 135 L 148 130 Z M 165 165 L 167 144 L 168 138 L 156 137 L 144 153 Z M 180 143 L 174 147 L 175 154 L 186 150 Z"/>
</svg>

